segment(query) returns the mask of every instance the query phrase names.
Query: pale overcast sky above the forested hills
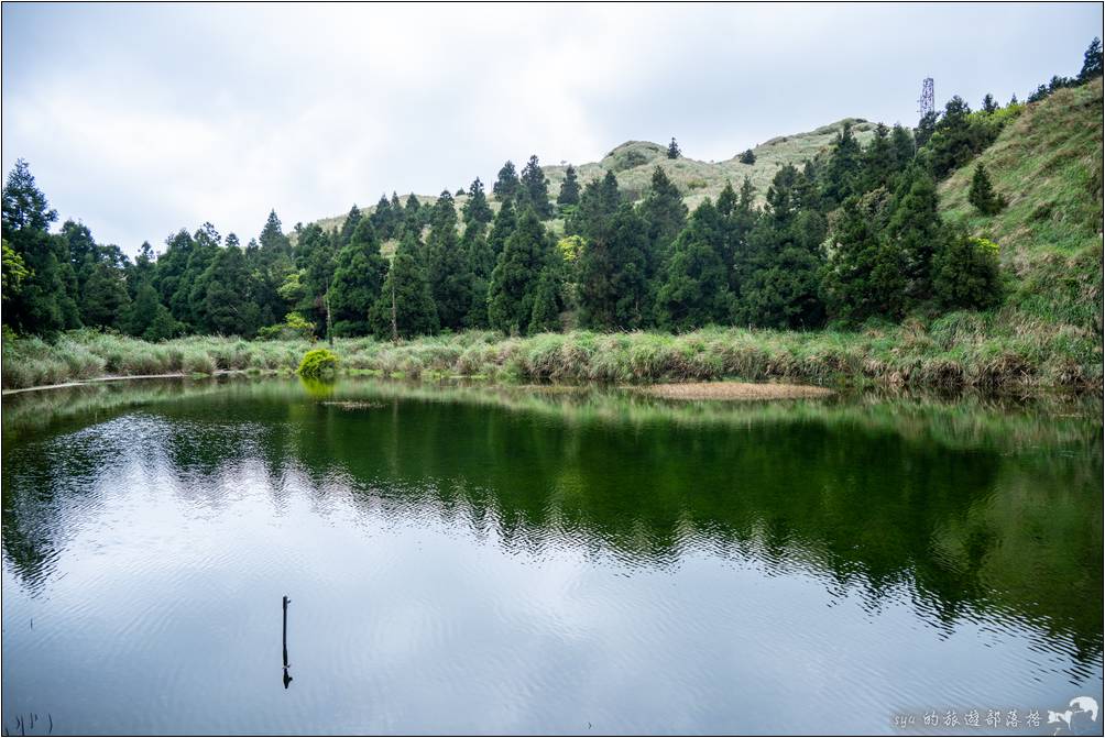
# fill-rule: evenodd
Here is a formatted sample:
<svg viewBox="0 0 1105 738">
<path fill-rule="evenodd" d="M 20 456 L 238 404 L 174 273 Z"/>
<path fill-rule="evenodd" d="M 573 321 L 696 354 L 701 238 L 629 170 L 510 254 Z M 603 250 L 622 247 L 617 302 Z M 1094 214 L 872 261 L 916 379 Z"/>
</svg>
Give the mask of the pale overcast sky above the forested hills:
<svg viewBox="0 0 1105 738">
<path fill-rule="evenodd" d="M 723 159 L 846 116 L 916 122 L 1073 75 L 1099 3 L 3 6 L 3 154 L 135 253 L 244 241 L 502 162 L 676 136 Z"/>
</svg>

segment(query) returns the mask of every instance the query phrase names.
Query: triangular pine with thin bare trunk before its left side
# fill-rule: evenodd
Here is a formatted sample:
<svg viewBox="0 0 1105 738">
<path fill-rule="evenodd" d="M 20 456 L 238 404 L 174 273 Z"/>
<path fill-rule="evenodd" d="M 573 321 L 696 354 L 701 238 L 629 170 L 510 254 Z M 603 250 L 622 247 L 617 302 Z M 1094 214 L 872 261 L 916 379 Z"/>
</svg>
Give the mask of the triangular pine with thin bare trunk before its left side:
<svg viewBox="0 0 1105 738">
<path fill-rule="evenodd" d="M 419 251 L 418 239 L 408 230 L 369 314 L 369 324 L 378 338 L 396 340 L 438 331 L 438 309 Z"/>
</svg>

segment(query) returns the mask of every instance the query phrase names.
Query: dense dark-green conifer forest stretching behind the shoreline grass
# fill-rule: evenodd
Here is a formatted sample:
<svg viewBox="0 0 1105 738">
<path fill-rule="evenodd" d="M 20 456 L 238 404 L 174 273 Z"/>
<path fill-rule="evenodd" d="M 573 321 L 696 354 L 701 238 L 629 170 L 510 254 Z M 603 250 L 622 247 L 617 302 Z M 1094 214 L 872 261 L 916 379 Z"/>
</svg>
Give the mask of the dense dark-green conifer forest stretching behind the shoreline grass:
<svg viewBox="0 0 1105 738">
<path fill-rule="evenodd" d="M 1077 77 L 1053 77 L 1029 101 L 1101 75 L 1095 39 Z M 520 172 L 507 161 L 491 193 L 473 181 L 462 207 L 448 190 L 433 203 L 392 194 L 329 231 L 285 232 L 272 212 L 244 246 L 204 223 L 159 254 L 144 243 L 134 260 L 80 222 L 52 233 L 57 214 L 20 160 L 3 188 L 3 320 L 19 334 L 85 326 L 148 340 L 398 338 L 807 329 L 987 309 L 1002 299 L 998 245 L 944 223 L 936 187 L 1022 109 L 987 95 L 971 110 L 956 96 L 912 130 L 877 126 L 865 146 L 844 125 L 804 166 L 779 168 L 762 207 L 746 179 L 688 212 L 661 168 L 636 202 L 613 172 L 581 183 L 570 167 L 552 193 L 534 156 Z M 667 156 L 682 156 L 675 139 Z M 981 165 L 969 198 L 980 212 L 1004 205 Z M 390 259 L 385 241 L 398 242 Z"/>
</svg>

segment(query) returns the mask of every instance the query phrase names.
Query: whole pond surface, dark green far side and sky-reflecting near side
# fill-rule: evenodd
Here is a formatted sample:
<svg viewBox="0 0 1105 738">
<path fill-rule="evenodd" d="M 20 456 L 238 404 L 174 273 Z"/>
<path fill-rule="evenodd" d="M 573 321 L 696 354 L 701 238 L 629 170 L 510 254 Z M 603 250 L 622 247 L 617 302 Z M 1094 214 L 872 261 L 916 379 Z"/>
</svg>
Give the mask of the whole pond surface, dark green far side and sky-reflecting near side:
<svg viewBox="0 0 1105 738">
<path fill-rule="evenodd" d="M 3 411 L 9 732 L 1052 735 L 1105 702 L 1099 401 L 346 379 Z"/>
</svg>

